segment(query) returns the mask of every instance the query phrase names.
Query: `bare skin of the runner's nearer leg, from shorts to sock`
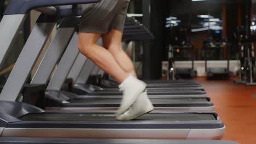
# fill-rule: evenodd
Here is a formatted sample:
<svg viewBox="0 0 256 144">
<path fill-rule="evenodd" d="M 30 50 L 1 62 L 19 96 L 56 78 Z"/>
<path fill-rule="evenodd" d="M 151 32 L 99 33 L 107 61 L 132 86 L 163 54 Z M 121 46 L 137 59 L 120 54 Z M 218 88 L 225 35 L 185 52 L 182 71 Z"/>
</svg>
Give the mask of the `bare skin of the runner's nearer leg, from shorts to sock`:
<svg viewBox="0 0 256 144">
<path fill-rule="evenodd" d="M 129 77 L 129 73 L 119 66 L 109 51 L 96 44 L 100 36 L 101 34 L 79 33 L 79 51 L 119 83 L 122 83 Z"/>
</svg>

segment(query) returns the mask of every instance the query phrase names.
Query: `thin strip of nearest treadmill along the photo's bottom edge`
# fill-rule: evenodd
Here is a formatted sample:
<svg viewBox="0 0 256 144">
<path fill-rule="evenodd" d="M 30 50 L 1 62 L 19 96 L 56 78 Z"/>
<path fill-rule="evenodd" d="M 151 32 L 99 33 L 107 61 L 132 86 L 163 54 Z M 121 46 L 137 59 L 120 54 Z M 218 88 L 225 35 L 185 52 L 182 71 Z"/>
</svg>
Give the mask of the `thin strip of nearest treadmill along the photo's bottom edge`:
<svg viewBox="0 0 256 144">
<path fill-rule="evenodd" d="M 31 137 L 0 137 L 2 144 L 238 144 L 210 140 L 133 140 L 133 139 L 45 139 Z"/>
</svg>

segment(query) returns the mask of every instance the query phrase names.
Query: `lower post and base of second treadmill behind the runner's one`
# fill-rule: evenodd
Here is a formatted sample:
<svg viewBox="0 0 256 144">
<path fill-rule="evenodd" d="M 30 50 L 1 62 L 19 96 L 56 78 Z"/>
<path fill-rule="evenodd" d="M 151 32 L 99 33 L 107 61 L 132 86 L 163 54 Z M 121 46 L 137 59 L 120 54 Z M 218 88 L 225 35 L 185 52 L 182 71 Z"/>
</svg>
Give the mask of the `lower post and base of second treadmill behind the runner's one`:
<svg viewBox="0 0 256 144">
<path fill-rule="evenodd" d="M 74 79 L 74 86 L 72 88 L 72 92 L 75 94 L 79 95 L 120 95 L 121 92 L 118 91 L 117 85 L 113 85 L 113 87 L 108 86 L 108 88 L 101 88 L 97 86 L 92 86 L 92 85 L 86 85 L 86 81 L 88 80 L 88 77 L 91 73 L 91 70 L 94 70 L 94 67 L 96 65 L 90 61 L 89 59 L 86 60 L 84 64 L 84 68 L 82 71 L 79 73 L 79 76 L 77 80 Z M 62 73 L 62 71 L 60 71 Z M 106 82 L 106 81 L 105 81 Z M 159 85 L 163 86 L 161 84 L 154 84 L 154 86 Z M 175 85 L 175 86 L 174 86 Z M 185 86 L 186 84 L 175 84 L 173 83 L 174 87 L 166 86 L 166 87 L 148 87 L 148 94 L 149 95 L 154 95 L 154 94 L 159 94 L 159 95 L 167 95 L 167 94 L 206 94 L 204 89 L 200 85 L 188 85 Z"/>
</svg>

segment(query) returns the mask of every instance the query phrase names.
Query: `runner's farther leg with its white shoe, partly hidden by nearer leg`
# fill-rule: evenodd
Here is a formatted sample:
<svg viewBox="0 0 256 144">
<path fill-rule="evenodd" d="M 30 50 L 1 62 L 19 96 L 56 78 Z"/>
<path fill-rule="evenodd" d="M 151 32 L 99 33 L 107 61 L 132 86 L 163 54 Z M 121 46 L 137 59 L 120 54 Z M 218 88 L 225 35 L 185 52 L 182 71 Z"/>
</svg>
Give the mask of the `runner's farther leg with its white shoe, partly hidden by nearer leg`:
<svg viewBox="0 0 256 144">
<path fill-rule="evenodd" d="M 104 46 L 108 49 L 110 53 L 114 56 L 115 60 L 118 62 L 121 68 L 123 68 L 127 73 L 136 76 L 134 65 L 123 50 L 121 43 L 123 32 L 113 29 L 110 33 L 103 35 Z M 147 92 L 143 92 L 136 99 L 135 103 L 130 107 L 129 110 L 123 113 L 118 113 L 117 119 L 120 121 L 129 121 L 145 113 L 154 110 L 154 106 L 150 102 Z"/>
</svg>

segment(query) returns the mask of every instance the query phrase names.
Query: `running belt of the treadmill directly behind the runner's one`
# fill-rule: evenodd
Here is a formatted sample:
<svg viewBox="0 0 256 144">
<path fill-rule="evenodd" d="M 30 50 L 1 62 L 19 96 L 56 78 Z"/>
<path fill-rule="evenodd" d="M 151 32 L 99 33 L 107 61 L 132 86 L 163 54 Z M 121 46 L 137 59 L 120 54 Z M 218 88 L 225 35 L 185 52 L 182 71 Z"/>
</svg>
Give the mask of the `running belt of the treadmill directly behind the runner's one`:
<svg viewBox="0 0 256 144">
<path fill-rule="evenodd" d="M 166 99 L 166 98 L 158 98 L 158 99 L 150 99 L 153 104 L 177 104 L 177 103 L 201 103 L 208 102 L 206 98 L 178 98 L 178 99 Z M 86 104 L 120 104 L 121 99 L 70 99 L 69 103 L 86 103 Z"/>
</svg>

